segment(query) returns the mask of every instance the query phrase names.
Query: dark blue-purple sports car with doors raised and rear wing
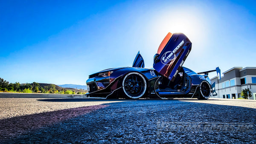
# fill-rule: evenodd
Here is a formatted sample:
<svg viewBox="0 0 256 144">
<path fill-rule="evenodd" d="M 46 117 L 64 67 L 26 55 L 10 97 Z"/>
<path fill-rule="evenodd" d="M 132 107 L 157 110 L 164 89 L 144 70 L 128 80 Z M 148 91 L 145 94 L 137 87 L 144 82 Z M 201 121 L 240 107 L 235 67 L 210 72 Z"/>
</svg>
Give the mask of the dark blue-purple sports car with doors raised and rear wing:
<svg viewBox="0 0 256 144">
<path fill-rule="evenodd" d="M 132 67 L 105 69 L 89 75 L 87 97 L 99 98 L 198 98 L 215 95 L 207 72 L 183 67 L 192 43 L 182 33 L 168 33 L 154 55 L 154 69 L 144 68 L 140 52 Z M 203 74 L 203 75 L 201 75 Z"/>
</svg>

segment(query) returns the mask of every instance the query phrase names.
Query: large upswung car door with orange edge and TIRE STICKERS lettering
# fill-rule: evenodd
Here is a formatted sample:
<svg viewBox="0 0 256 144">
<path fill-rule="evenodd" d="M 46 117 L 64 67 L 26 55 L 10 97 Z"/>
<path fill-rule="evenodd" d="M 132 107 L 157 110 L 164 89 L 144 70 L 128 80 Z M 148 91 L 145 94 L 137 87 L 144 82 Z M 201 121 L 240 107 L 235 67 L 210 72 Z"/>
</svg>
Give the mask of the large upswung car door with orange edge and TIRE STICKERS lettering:
<svg viewBox="0 0 256 144">
<path fill-rule="evenodd" d="M 191 51 L 192 43 L 183 33 L 168 33 L 154 56 L 153 67 L 161 75 L 174 81 Z"/>
</svg>

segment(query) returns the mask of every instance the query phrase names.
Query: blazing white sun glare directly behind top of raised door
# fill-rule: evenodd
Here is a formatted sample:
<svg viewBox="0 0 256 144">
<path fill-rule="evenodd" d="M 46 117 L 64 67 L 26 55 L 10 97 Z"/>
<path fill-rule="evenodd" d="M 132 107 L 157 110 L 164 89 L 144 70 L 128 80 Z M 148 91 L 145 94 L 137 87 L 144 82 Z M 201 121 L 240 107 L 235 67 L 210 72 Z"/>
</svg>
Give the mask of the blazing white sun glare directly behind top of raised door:
<svg viewBox="0 0 256 144">
<path fill-rule="evenodd" d="M 153 23 L 155 33 L 163 38 L 168 32 L 183 33 L 196 45 L 204 44 L 207 38 L 206 20 L 197 10 L 160 12 Z"/>
</svg>

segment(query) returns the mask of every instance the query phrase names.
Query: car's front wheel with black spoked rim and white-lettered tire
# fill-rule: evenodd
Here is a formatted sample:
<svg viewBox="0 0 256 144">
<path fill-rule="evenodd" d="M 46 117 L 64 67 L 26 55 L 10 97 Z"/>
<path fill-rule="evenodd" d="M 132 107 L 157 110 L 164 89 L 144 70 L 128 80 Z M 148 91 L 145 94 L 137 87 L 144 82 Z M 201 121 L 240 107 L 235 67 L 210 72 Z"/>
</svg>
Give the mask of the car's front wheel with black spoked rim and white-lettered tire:
<svg viewBox="0 0 256 144">
<path fill-rule="evenodd" d="M 145 95 L 147 82 L 142 74 L 130 72 L 122 80 L 122 90 L 125 98 L 138 99 Z"/>
</svg>

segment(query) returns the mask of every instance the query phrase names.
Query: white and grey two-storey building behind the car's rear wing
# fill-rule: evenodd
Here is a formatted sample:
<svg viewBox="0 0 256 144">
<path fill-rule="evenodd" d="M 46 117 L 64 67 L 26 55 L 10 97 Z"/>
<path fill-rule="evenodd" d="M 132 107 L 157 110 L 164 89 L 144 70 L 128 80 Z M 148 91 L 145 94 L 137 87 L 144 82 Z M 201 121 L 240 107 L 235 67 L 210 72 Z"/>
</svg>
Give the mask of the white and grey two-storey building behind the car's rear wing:
<svg viewBox="0 0 256 144">
<path fill-rule="evenodd" d="M 253 96 L 248 99 L 256 99 L 256 67 L 233 67 L 223 74 L 221 81 L 218 76 L 211 79 L 217 93 L 212 98 L 241 98 L 242 89 L 249 88 Z"/>
</svg>

